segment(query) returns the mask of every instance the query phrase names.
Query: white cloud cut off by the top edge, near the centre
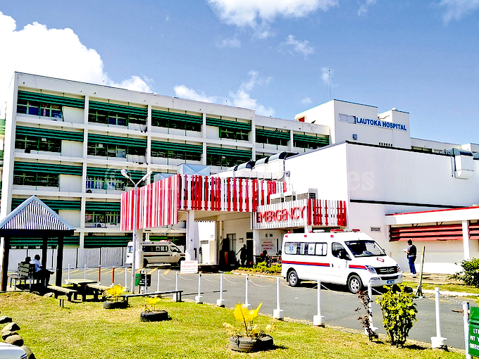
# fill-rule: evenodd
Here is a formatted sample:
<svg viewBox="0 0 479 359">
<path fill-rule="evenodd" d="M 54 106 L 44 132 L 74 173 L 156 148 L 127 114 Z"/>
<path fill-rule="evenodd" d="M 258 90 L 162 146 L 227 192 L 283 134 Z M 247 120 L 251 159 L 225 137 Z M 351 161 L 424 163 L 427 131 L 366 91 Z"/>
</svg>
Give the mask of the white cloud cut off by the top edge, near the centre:
<svg viewBox="0 0 479 359">
<path fill-rule="evenodd" d="M 259 37 L 270 36 L 275 18 L 303 18 L 318 9 L 328 11 L 339 0 L 207 0 L 220 20 L 228 25 L 252 27 Z"/>
</svg>

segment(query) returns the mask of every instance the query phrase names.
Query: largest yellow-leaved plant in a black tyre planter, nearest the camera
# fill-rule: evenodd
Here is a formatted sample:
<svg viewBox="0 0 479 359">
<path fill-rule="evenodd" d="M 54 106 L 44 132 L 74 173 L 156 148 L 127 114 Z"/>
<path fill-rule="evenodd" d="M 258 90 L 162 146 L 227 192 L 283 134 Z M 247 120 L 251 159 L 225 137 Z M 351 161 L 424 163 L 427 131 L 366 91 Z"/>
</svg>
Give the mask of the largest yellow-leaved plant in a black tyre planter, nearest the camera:
<svg viewBox="0 0 479 359">
<path fill-rule="evenodd" d="M 273 337 L 267 333 L 273 332 L 275 326 L 267 325 L 265 329 L 261 329 L 257 325 L 253 325 L 253 320 L 258 317 L 261 305 L 262 303 L 259 303 L 258 308 L 252 310 L 244 308 L 241 303 L 235 306 L 235 319 L 241 327 L 239 330 L 230 323 L 223 323 L 223 327 L 230 334 L 230 349 L 233 351 L 251 353 L 273 348 Z"/>
</svg>

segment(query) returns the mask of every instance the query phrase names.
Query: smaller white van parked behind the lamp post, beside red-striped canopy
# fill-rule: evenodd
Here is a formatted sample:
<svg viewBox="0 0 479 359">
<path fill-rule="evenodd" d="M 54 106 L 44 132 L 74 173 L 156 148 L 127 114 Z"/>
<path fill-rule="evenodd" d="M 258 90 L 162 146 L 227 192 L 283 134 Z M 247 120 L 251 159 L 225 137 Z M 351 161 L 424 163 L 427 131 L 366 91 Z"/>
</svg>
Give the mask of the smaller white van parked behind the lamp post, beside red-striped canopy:
<svg viewBox="0 0 479 359">
<path fill-rule="evenodd" d="M 170 241 L 143 242 L 143 267 L 149 264 L 180 265 L 185 260 L 185 253 Z M 132 264 L 133 242 L 128 242 L 126 251 L 127 264 Z"/>
</svg>

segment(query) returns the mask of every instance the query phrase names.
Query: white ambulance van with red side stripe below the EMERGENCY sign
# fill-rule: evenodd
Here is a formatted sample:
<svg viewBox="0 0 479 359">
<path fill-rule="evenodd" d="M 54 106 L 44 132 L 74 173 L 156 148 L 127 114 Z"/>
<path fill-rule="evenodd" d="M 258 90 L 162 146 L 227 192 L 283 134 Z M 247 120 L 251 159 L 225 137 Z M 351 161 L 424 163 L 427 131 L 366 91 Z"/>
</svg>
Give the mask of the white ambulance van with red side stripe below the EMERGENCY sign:
<svg viewBox="0 0 479 359">
<path fill-rule="evenodd" d="M 297 286 L 301 279 L 347 284 L 357 293 L 371 281 L 373 286 L 402 283 L 397 262 L 368 234 L 344 232 L 287 233 L 282 239 L 281 275 Z"/>
</svg>

